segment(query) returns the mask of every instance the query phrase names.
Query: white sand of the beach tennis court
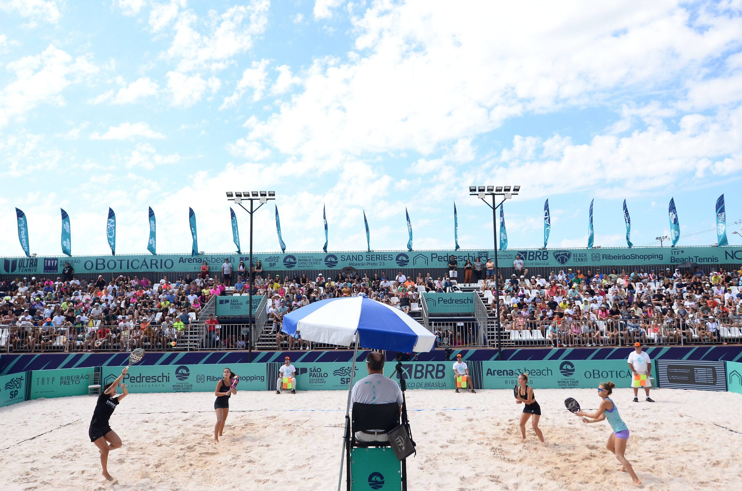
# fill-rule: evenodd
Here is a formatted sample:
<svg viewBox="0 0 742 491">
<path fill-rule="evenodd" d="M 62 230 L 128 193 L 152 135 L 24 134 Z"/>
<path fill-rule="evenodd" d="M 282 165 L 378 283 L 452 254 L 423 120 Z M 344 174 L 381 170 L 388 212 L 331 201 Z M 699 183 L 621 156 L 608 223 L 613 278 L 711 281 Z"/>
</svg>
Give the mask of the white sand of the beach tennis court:
<svg viewBox="0 0 742 491">
<path fill-rule="evenodd" d="M 631 389 L 617 389 L 613 397 L 631 429 L 626 456 L 644 489 L 741 489 L 742 395 L 670 389 L 652 395 L 657 403 L 631 402 Z M 585 408 L 599 401 L 594 390 L 536 388 L 543 445 L 530 423 L 527 441 L 521 440 L 522 406 L 509 390 L 408 391 L 410 409 L 420 409 L 410 412 L 418 444 L 408 461 L 410 490 L 630 488 L 628 475 L 605 450 L 608 424 L 580 423 L 564 409 L 570 396 Z M 129 395 L 111 418 L 124 444 L 109 458 L 114 484 L 101 477 L 88 438 L 94 398 L 8 406 L 0 409 L 0 447 L 13 446 L 0 450 L 0 489 L 333 490 L 346 397 L 335 391 L 240 392 L 215 446 L 213 395 Z"/>
</svg>

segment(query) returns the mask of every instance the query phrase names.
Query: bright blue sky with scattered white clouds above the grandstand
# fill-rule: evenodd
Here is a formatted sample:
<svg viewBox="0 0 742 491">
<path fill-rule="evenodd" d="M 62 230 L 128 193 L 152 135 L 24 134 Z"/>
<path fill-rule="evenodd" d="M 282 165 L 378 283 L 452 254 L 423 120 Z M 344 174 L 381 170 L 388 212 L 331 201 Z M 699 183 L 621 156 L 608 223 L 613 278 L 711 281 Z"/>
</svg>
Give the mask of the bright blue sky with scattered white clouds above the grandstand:
<svg viewBox="0 0 742 491">
<path fill-rule="evenodd" d="M 275 190 L 287 251 L 491 246 L 468 185 L 521 185 L 510 248 L 682 245 L 742 219 L 742 2 L 0 0 L 0 254 L 232 250 L 224 191 Z M 243 249 L 247 215 L 237 209 Z M 272 204 L 255 250 L 276 251 Z"/>
</svg>

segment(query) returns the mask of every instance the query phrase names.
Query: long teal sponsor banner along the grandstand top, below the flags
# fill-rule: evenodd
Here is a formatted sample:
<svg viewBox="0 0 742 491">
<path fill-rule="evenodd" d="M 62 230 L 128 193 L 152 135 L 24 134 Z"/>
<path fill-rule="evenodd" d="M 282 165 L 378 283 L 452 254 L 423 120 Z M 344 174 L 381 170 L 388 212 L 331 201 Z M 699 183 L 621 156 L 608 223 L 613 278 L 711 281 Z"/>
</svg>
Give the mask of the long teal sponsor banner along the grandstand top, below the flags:
<svg viewBox="0 0 742 491">
<path fill-rule="evenodd" d="M 266 271 L 341 270 L 346 266 L 357 269 L 386 269 L 387 274 L 399 268 L 414 268 L 427 271 L 432 268 L 448 268 L 448 259 L 453 254 L 459 265 L 477 257 L 494 257 L 488 249 L 469 251 L 387 251 L 387 252 L 331 252 L 319 253 L 261 253 L 253 254 Z M 600 248 L 596 249 L 509 249 L 499 251 L 497 260 L 501 268 L 512 268 L 515 255 L 520 254 L 527 267 L 566 268 L 591 266 L 651 266 L 677 265 L 691 261 L 704 265 L 740 263 L 742 247 L 646 247 L 646 248 Z M 47 256 L 47 257 L 3 257 L 0 258 L 0 274 L 62 274 L 65 263 L 75 268 L 76 274 L 101 273 L 151 273 L 200 271 L 204 261 L 213 271 L 220 271 L 224 260 L 232 263 L 236 271 L 240 261 L 248 263 L 245 254 L 156 254 L 112 256 Z M 706 268 L 708 269 L 708 268 Z"/>
</svg>

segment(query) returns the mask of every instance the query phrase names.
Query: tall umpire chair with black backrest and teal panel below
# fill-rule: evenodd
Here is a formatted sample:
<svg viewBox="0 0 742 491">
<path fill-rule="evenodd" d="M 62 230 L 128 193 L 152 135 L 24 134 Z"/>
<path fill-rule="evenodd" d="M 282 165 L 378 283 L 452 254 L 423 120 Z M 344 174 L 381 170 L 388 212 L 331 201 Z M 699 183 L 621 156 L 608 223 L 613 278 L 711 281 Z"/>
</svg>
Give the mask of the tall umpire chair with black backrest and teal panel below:
<svg viewBox="0 0 742 491">
<path fill-rule="evenodd" d="M 392 434 L 400 431 L 406 435 L 406 426 L 400 426 L 398 403 L 353 403 L 350 432 L 344 435 L 347 491 L 375 491 L 382 487 L 384 491 L 407 491 L 406 458 L 399 460 L 390 441 L 367 442 L 355 438 L 356 432 L 366 432 L 390 435 L 390 440 L 399 441 L 402 437 L 398 439 Z"/>
</svg>

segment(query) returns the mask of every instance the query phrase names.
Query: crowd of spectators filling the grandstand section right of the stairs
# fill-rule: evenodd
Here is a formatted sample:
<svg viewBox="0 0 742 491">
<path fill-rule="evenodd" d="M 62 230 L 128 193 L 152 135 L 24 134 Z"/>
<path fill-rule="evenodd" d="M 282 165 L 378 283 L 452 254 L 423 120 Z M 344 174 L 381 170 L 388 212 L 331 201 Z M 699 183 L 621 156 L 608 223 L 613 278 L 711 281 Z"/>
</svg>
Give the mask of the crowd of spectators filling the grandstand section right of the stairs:
<svg viewBox="0 0 742 491">
<path fill-rule="evenodd" d="M 567 268 L 548 277 L 499 277 L 499 294 L 493 280 L 481 289 L 491 298 L 492 312 L 499 302 L 505 331 L 527 331 L 526 338 L 554 346 L 723 343 L 740 337 L 741 279 L 742 268 Z"/>
</svg>

